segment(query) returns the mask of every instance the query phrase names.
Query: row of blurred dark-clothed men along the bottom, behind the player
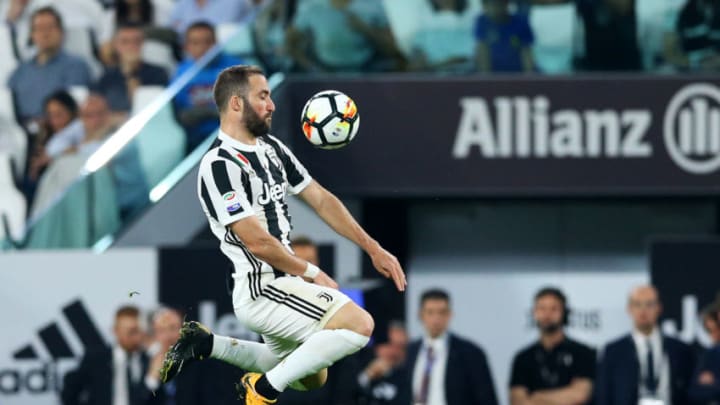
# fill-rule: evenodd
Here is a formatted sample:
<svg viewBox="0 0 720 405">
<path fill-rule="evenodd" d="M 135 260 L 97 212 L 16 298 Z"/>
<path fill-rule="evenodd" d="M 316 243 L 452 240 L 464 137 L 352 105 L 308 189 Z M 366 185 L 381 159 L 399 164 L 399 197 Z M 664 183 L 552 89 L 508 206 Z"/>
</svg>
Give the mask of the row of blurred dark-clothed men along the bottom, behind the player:
<svg viewBox="0 0 720 405">
<path fill-rule="evenodd" d="M 278 404 L 495 405 L 496 389 L 508 390 L 511 405 L 717 403 L 720 299 L 701 313 L 713 342 L 703 350 L 664 335 L 661 308 L 655 288 L 635 288 L 627 302 L 633 329 L 596 351 L 566 334 L 563 292 L 543 288 L 533 299 L 539 338 L 512 359 L 509 387 L 496 387 L 483 349 L 449 329 L 448 293 L 427 290 L 418 309 L 423 336 L 410 340 L 402 322 L 390 322 L 381 338 L 333 365 L 324 387 L 288 390 Z M 158 369 L 181 322 L 181 312 L 161 308 L 146 332 L 137 308 L 118 309 L 114 345 L 87 351 L 68 372 L 62 403 L 236 403 L 242 371 L 218 360 L 190 364 L 177 380 L 160 384 Z"/>
</svg>

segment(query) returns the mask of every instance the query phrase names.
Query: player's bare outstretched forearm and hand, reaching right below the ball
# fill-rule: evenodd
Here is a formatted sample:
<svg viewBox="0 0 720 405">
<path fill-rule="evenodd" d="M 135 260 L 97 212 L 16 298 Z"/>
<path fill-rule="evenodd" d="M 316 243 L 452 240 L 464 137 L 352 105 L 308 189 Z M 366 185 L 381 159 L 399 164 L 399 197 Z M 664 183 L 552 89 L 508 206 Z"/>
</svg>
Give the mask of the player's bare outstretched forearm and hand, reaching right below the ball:
<svg viewBox="0 0 720 405">
<path fill-rule="evenodd" d="M 377 271 L 387 278 L 392 278 L 398 290 L 405 290 L 405 273 L 397 258 L 362 229 L 337 197 L 315 180 L 312 180 L 299 196 L 337 233 L 360 246 L 370 256 Z"/>
</svg>

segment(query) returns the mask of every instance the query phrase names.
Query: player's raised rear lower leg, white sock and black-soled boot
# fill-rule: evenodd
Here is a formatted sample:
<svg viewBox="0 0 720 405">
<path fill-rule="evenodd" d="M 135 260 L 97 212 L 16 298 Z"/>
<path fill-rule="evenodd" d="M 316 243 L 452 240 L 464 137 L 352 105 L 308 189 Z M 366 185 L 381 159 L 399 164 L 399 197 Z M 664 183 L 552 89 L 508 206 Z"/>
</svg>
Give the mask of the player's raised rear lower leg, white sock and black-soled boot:
<svg viewBox="0 0 720 405">
<path fill-rule="evenodd" d="M 257 372 L 268 371 L 280 362 L 267 345 L 213 335 L 205 325 L 191 321 L 183 323 L 180 339 L 165 355 L 160 378 L 166 383 L 189 363 L 208 357 Z"/>
</svg>

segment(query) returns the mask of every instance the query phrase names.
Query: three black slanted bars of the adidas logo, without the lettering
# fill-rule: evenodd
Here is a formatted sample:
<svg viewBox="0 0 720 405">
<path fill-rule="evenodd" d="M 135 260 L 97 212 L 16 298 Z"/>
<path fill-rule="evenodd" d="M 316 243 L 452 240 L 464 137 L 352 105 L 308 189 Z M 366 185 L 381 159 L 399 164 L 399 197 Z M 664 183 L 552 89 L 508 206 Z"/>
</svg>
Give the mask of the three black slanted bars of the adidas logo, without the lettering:
<svg viewBox="0 0 720 405">
<path fill-rule="evenodd" d="M 84 348 L 105 345 L 105 339 L 103 339 L 80 300 L 75 300 L 63 307 L 62 313 Z M 40 329 L 38 337 L 53 360 L 72 359 L 80 355 L 80 353 L 73 352 L 67 338 L 61 332 L 58 322 L 53 322 Z M 38 360 L 40 356 L 36 347 L 29 343 L 16 350 L 13 353 L 13 358 L 16 360 Z"/>
</svg>

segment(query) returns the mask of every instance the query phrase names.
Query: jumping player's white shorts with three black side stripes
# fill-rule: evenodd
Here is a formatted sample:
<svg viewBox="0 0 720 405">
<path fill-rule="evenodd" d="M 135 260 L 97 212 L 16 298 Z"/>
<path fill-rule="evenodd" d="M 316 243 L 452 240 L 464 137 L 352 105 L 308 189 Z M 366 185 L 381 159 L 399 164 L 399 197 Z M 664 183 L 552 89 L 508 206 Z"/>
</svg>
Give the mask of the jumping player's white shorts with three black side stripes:
<svg viewBox="0 0 720 405">
<path fill-rule="evenodd" d="M 268 348 L 285 358 L 325 324 L 350 298 L 338 290 L 308 283 L 300 277 L 278 277 L 252 297 L 245 277 L 235 278 L 235 316 L 260 334 Z"/>
</svg>

